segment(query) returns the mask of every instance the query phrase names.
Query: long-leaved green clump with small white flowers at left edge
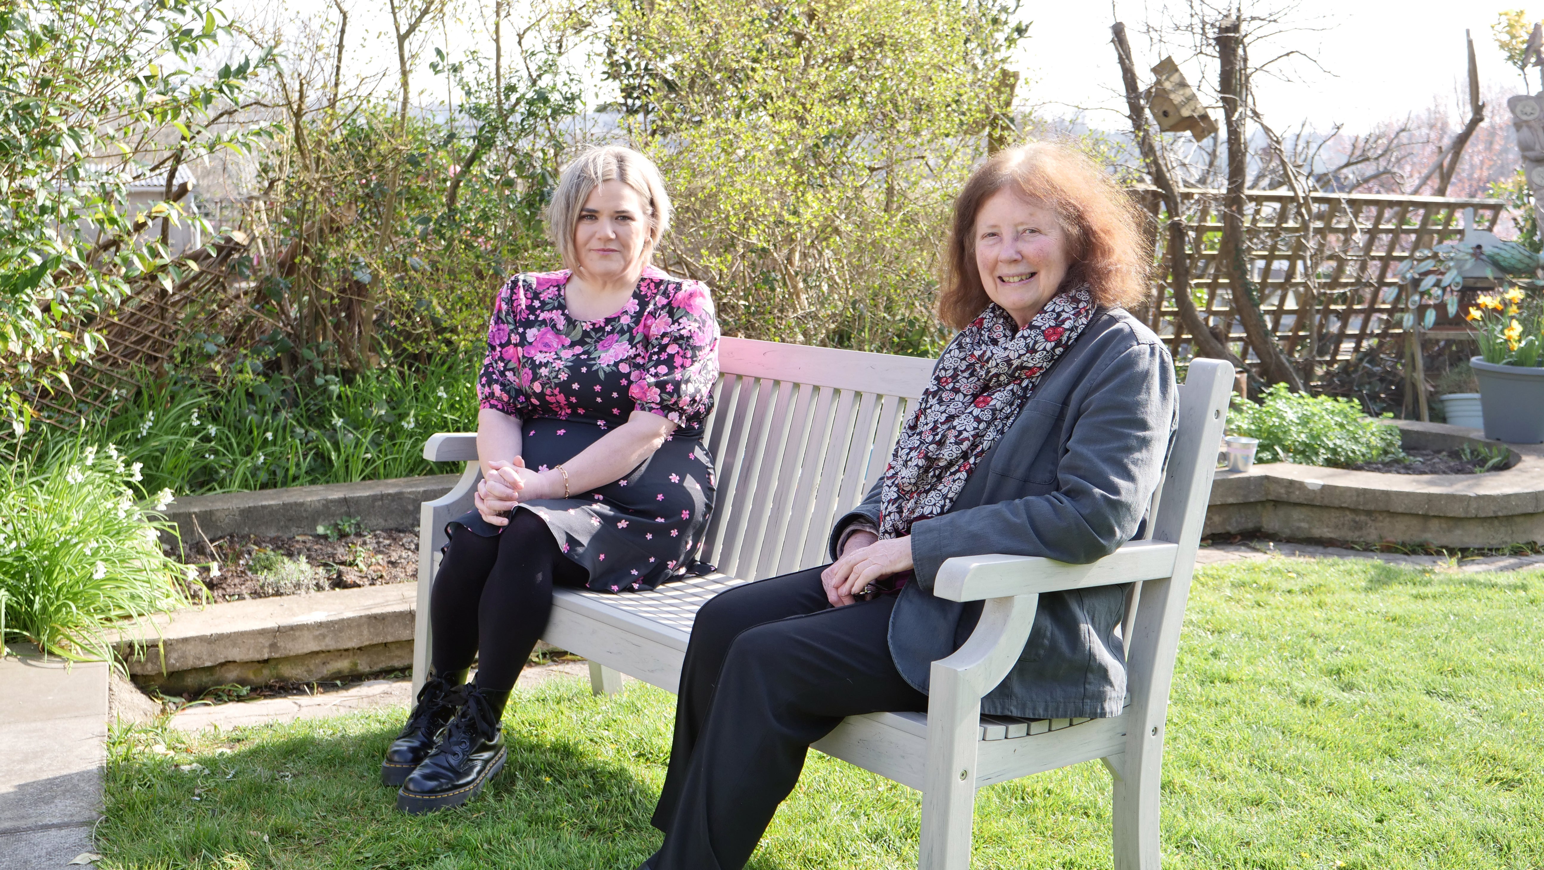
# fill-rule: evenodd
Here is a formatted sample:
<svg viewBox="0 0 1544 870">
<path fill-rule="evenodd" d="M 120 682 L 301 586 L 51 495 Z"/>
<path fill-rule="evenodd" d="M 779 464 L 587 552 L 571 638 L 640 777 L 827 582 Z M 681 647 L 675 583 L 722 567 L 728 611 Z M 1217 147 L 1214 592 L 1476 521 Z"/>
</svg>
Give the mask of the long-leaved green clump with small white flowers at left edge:
<svg viewBox="0 0 1544 870">
<path fill-rule="evenodd" d="M 0 479 L 5 637 L 76 660 L 108 658 L 107 624 L 187 603 L 184 566 L 162 555 L 171 494 L 139 501 L 139 467 L 111 445 L 71 443 Z M 0 640 L 5 640 L 0 637 Z"/>
</svg>

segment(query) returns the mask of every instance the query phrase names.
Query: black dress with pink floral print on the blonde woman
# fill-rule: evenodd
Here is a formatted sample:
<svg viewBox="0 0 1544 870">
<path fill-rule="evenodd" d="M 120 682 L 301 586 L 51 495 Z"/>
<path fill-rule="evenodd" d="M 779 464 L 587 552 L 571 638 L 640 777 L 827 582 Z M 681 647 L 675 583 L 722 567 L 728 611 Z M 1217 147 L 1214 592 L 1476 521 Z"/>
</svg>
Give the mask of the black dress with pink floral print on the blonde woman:
<svg viewBox="0 0 1544 870">
<path fill-rule="evenodd" d="M 477 393 L 483 408 L 522 420 L 522 457 L 547 470 L 577 456 L 635 411 L 675 431 L 622 479 L 567 499 L 533 499 L 562 552 L 599 592 L 653 589 L 693 569 L 713 510 L 713 457 L 703 425 L 718 380 L 718 321 L 701 281 L 644 270 L 622 311 L 568 314 L 568 270 L 523 274 L 500 291 Z M 455 524 L 502 528 L 477 511 Z"/>
</svg>

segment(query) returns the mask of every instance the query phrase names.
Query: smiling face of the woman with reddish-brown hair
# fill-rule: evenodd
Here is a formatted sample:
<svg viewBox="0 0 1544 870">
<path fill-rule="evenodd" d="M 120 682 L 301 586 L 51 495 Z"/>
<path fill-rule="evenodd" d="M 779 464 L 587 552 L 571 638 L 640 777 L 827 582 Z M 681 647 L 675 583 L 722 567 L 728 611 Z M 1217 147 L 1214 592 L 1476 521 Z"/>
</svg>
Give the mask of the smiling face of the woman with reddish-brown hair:
<svg viewBox="0 0 1544 870">
<path fill-rule="evenodd" d="M 1056 295 L 1072 266 L 1056 213 L 1007 187 L 980 204 L 973 243 L 982 287 L 1019 329 Z"/>
</svg>

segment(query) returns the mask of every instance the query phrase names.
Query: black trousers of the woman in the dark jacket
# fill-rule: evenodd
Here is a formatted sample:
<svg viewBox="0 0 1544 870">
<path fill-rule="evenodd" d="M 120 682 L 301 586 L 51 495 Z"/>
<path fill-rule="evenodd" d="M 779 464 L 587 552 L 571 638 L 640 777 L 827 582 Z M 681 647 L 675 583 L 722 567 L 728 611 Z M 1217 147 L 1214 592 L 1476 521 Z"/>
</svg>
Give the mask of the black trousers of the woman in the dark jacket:
<svg viewBox="0 0 1544 870">
<path fill-rule="evenodd" d="M 809 569 L 703 606 L 681 669 L 653 870 L 738 870 L 798 783 L 809 745 L 848 715 L 925 711 L 889 657 L 892 595 L 832 607 Z"/>
</svg>

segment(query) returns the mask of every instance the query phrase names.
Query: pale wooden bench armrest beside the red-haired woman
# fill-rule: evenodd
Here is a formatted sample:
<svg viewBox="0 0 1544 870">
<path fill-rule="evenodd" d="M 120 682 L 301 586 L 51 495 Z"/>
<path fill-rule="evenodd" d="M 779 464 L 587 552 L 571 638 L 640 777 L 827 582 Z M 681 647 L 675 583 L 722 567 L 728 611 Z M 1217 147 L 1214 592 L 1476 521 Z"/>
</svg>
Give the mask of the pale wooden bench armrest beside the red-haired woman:
<svg viewBox="0 0 1544 870">
<path fill-rule="evenodd" d="M 1177 544 L 1132 541 L 1102 559 L 1073 566 L 1044 556 L 956 556 L 939 567 L 933 593 L 950 601 L 1041 595 L 1173 575 Z"/>
</svg>

